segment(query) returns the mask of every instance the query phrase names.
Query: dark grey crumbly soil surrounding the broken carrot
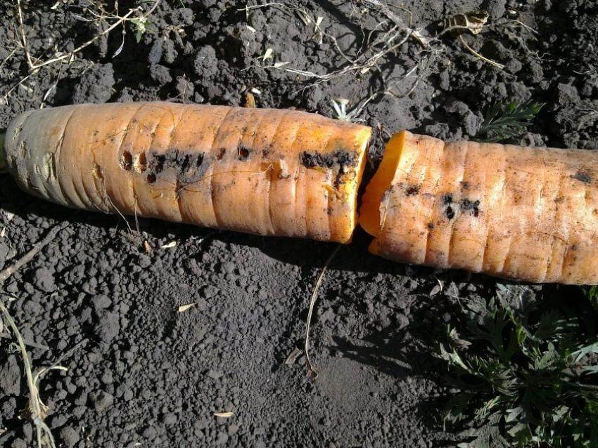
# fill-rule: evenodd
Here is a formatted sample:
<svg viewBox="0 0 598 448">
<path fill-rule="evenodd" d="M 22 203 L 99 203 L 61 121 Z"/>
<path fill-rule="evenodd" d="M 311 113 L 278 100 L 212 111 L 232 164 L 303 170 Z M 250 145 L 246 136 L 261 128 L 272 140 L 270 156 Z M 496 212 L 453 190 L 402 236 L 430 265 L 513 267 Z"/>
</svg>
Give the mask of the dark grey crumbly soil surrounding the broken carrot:
<svg viewBox="0 0 598 448">
<path fill-rule="evenodd" d="M 77 6 L 84 1 L 59 1 L 56 8 L 53 1 L 21 3 L 30 53 L 42 60 L 105 29 L 77 19 L 89 17 Z M 122 12 L 131 2 L 119 3 Z M 360 15 L 364 6 L 352 3 L 293 2 L 321 16 L 326 33 L 355 54 L 361 27 L 373 29 L 382 19 Z M 484 8 L 492 15 L 488 26 L 467 40 L 505 67 L 443 38 L 445 50 L 412 93 L 375 98 L 360 115 L 381 129 L 371 147 L 374 162 L 389 133 L 472 138 L 492 102 L 528 98 L 547 104 L 514 143 L 598 147 L 597 1 L 407 0 L 402 6 L 428 35 L 447 16 Z M 42 106 L 158 99 L 240 105 L 251 88 L 260 91 L 258 107 L 330 115 L 331 99 L 357 104 L 381 87 L 382 76 L 402 79 L 421 56 L 409 39 L 379 72 L 316 86 L 281 70 L 247 70 L 263 65 L 267 48 L 274 55 L 269 61 L 320 74 L 343 59 L 329 39 L 312 39 L 313 24 L 298 14 L 260 8 L 247 16 L 242 7 L 228 0 L 162 1 L 139 42 L 127 25 L 117 55 L 120 27 L 79 58 L 25 79 L 0 104 L 0 128 Z M 15 2 L 1 0 L 0 17 L 1 100 L 29 69 Z M 407 81 L 399 86 L 404 91 Z M 328 163 L 312 156 L 309 163 Z M 476 213 L 474 202 L 453 205 Z M 445 388 L 433 350 L 445 323 L 459 315 L 456 298 L 489 298 L 496 279 L 384 261 L 369 255 L 370 238 L 358 230 L 319 291 L 311 338 L 319 376 L 312 381 L 303 356 L 290 365 L 285 360 L 301 344 L 307 301 L 332 244 L 143 219 L 141 232 L 131 233 L 118 216 L 72 214 L 18 191 L 8 176 L 0 178 L 0 213 L 0 268 L 53 224 L 70 222 L 2 285 L 14 296 L 3 301 L 25 341 L 37 344 L 30 346 L 34 366 L 68 367 L 47 374 L 41 386 L 50 407 L 46 421 L 61 446 L 452 446 L 453 436 L 438 424 Z M 160 248 L 172 241 L 176 246 Z M 526 291 L 530 300 L 578 294 L 562 286 L 507 289 Z M 178 312 L 189 303 L 196 305 Z M 30 446 L 32 423 L 18 419 L 27 400 L 20 355 L 6 330 L 0 343 L 0 445 Z M 215 417 L 219 411 L 234 416 Z"/>
</svg>

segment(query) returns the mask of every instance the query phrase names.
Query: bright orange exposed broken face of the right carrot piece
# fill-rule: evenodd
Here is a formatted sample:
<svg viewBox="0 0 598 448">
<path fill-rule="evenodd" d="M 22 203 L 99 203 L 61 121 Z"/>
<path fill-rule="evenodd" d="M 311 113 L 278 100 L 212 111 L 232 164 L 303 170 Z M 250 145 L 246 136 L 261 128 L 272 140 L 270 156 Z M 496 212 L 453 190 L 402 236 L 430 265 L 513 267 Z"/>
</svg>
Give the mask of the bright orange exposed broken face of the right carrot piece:
<svg viewBox="0 0 598 448">
<path fill-rule="evenodd" d="M 367 185 L 363 195 L 360 208 L 360 225 L 373 237 L 377 237 L 380 232 L 380 204 L 384 193 L 395 177 L 403 145 L 405 145 L 405 131 L 396 133 L 388 140 L 378 171 L 371 178 L 371 182 Z"/>
</svg>

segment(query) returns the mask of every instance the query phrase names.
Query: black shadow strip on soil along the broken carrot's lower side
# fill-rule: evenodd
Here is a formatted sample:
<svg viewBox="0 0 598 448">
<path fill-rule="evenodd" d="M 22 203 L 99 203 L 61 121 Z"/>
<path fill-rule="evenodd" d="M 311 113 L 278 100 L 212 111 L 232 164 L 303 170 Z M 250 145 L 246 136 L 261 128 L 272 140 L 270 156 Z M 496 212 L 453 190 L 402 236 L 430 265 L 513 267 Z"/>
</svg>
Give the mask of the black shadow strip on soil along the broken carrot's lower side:
<svg viewBox="0 0 598 448">
<path fill-rule="evenodd" d="M 10 199 L 8 199 L 10 198 Z M 52 220 L 69 220 L 75 224 L 93 225 L 99 228 L 122 230 L 122 233 L 132 243 L 131 249 L 143 252 L 143 234 L 155 238 L 174 238 L 180 242 L 191 239 L 205 239 L 205 244 L 210 240 L 220 240 L 230 244 L 250 246 L 259 249 L 266 256 L 283 263 L 297 265 L 307 270 L 322 268 L 322 265 L 335 249 L 336 244 L 317 242 L 310 239 L 296 239 L 288 237 L 262 237 L 259 235 L 245 235 L 238 232 L 200 228 L 194 225 L 170 223 L 151 218 L 138 218 L 139 231 L 136 234 L 136 223 L 133 216 L 125 217 L 90 211 L 73 211 L 64 206 L 56 206 L 50 202 L 38 199 L 22 192 L 8 175 L 0 176 L 0 211 L 13 213 L 15 216 L 28 220 L 27 215 L 42 216 Z M 128 232 L 128 230 L 132 232 Z M 122 244 L 122 235 L 114 235 L 113 242 L 103 241 L 103 247 Z M 371 274 L 393 274 L 414 279 L 434 279 L 435 271 L 423 266 L 406 268 L 402 263 L 395 263 L 378 256 L 373 256 L 367 251 L 371 236 L 361 228 L 355 230 L 351 244 L 344 246 L 329 265 L 331 270 L 343 272 L 368 272 Z M 34 244 L 34 242 L 32 242 Z M 198 244 L 198 251 L 205 250 L 205 244 Z M 193 256 L 193 253 L 189 253 Z M 485 275 L 469 275 L 466 272 L 452 270 L 448 277 L 456 282 L 469 282 L 477 286 L 495 284 L 496 280 Z M 445 276 L 446 277 L 446 276 Z M 501 280 L 503 284 L 518 284 L 509 280 Z M 426 293 L 429 291 L 414 291 Z"/>
</svg>

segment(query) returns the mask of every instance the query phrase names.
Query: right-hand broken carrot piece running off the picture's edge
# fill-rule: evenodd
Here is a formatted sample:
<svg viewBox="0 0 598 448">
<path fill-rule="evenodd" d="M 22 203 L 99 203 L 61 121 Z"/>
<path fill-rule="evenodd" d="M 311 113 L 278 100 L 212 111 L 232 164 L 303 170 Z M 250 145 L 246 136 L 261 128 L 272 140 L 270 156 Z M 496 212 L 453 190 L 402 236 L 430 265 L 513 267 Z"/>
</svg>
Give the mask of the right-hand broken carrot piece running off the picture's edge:
<svg viewBox="0 0 598 448">
<path fill-rule="evenodd" d="M 598 283 L 598 153 L 402 131 L 363 197 L 370 251 L 393 260 Z"/>
</svg>

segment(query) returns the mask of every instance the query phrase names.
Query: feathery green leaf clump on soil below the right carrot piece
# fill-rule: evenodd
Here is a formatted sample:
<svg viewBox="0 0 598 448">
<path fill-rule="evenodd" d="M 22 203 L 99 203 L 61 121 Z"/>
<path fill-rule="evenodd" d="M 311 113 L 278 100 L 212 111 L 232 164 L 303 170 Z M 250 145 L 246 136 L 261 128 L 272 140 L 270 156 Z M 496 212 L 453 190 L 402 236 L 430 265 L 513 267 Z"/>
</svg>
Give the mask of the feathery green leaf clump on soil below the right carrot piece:
<svg viewBox="0 0 598 448">
<path fill-rule="evenodd" d="M 469 303 L 462 334 L 447 327 L 438 350 L 454 392 L 445 429 L 489 425 L 512 447 L 598 447 L 598 313 L 587 301 L 584 310 L 542 306 Z M 476 437 L 458 446 L 481 446 Z"/>
</svg>

